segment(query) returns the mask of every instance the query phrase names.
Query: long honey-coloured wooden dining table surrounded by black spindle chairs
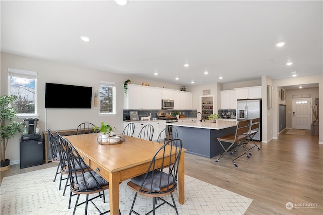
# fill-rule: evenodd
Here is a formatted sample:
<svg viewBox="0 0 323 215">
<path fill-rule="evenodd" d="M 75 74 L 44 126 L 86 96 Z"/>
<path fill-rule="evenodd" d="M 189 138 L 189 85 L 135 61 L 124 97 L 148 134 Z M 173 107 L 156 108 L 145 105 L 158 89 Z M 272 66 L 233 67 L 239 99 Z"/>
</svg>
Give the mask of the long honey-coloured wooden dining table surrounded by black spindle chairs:
<svg viewBox="0 0 323 215">
<path fill-rule="evenodd" d="M 98 144 L 100 133 L 63 136 L 71 142 L 85 163 L 109 182 L 110 214 L 119 214 L 119 184 L 146 173 L 152 157 L 162 146 L 157 142 L 125 136 L 121 144 Z M 178 167 L 179 203 L 184 204 L 184 152 Z M 170 153 L 166 156 L 172 156 Z M 157 157 L 158 158 L 158 157 Z M 161 158 L 161 156 L 160 156 Z"/>
</svg>

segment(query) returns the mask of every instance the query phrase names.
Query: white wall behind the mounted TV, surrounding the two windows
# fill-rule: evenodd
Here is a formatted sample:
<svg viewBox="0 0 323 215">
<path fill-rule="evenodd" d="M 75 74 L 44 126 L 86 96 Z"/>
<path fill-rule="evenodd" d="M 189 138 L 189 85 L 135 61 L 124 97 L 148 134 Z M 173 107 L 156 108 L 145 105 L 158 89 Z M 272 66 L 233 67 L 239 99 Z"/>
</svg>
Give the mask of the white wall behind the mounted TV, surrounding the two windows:
<svg viewBox="0 0 323 215">
<path fill-rule="evenodd" d="M 138 77 L 129 77 L 109 73 L 107 71 L 91 70 L 77 66 L 65 65 L 52 61 L 39 60 L 1 53 L 1 85 L 0 94 L 6 95 L 8 88 L 8 68 L 36 71 L 38 73 L 38 114 L 40 132 L 62 129 L 76 129 L 81 122 L 92 122 L 100 124 L 107 122 L 116 128 L 116 132 L 123 130 L 123 83 L 130 79 L 133 84 L 149 83 L 150 86 L 179 89 L 178 85 L 157 82 Z M 99 91 L 100 81 L 110 81 L 116 83 L 116 112 L 114 116 L 99 116 L 99 107 L 93 106 L 91 109 L 45 109 L 45 82 L 81 85 L 93 87 L 93 91 Z M 67 96 L 73 96 L 68 95 Z M 59 102 L 60 98 L 52 98 Z M 94 98 L 93 98 L 94 100 Z M 19 119 L 23 121 L 23 119 Z M 17 134 L 9 140 L 6 150 L 6 157 L 11 157 L 11 163 L 19 161 L 19 137 Z"/>
</svg>

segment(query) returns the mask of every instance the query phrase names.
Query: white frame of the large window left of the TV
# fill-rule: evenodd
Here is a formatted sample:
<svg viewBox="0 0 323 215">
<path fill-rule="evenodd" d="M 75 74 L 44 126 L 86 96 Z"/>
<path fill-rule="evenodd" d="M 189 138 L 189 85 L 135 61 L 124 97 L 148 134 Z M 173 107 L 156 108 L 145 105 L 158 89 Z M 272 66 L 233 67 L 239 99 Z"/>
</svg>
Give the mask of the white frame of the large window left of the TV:
<svg viewBox="0 0 323 215">
<path fill-rule="evenodd" d="M 17 113 L 18 118 L 38 117 L 38 74 L 36 71 L 27 71 L 21 69 L 8 68 L 8 88 L 7 95 L 11 95 L 11 81 L 10 77 L 28 78 L 35 81 L 35 112 L 34 113 Z"/>
</svg>

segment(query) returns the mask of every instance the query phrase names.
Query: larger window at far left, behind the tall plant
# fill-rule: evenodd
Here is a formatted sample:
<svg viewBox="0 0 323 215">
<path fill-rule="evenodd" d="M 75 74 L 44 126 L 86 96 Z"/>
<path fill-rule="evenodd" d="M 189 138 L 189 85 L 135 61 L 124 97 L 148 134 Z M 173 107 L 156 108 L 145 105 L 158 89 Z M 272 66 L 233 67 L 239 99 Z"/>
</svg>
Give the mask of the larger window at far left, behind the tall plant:
<svg viewBox="0 0 323 215">
<path fill-rule="evenodd" d="M 11 106 L 17 109 L 17 115 L 37 114 L 37 73 L 18 69 L 8 69 L 8 95 L 18 99 Z"/>
</svg>

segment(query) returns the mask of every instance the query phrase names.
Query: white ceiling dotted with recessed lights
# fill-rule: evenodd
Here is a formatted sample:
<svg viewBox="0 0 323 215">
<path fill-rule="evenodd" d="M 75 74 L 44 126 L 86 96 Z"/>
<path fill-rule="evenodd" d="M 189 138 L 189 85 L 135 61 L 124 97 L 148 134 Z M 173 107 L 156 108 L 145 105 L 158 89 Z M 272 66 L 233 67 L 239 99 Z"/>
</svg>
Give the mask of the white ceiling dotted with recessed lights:
<svg viewBox="0 0 323 215">
<path fill-rule="evenodd" d="M 4 53 L 179 85 L 323 73 L 322 1 L 0 4 Z"/>
</svg>

